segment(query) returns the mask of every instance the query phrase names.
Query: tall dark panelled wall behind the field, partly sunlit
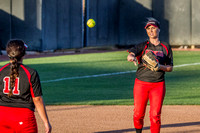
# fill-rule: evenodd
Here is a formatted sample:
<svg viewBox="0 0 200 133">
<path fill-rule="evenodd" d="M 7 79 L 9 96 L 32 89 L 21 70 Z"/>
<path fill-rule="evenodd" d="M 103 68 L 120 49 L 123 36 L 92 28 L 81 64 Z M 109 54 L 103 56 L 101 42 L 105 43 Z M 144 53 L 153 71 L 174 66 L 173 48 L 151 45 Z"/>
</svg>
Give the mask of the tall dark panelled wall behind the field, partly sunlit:
<svg viewBox="0 0 200 133">
<path fill-rule="evenodd" d="M 199 0 L 0 0 L 0 42 L 21 38 L 36 51 L 128 46 L 147 38 L 146 18 L 155 17 L 161 40 L 199 45 L 199 7 Z"/>
</svg>

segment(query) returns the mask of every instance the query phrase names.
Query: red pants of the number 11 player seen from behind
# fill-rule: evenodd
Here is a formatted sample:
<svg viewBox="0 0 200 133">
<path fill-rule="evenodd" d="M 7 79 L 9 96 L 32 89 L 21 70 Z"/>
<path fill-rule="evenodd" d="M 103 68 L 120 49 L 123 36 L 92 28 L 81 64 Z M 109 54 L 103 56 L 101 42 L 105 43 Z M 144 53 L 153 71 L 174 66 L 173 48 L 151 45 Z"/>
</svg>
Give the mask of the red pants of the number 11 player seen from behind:
<svg viewBox="0 0 200 133">
<path fill-rule="evenodd" d="M 0 106 L 1 133 L 37 133 L 34 112 L 28 108 Z"/>
</svg>

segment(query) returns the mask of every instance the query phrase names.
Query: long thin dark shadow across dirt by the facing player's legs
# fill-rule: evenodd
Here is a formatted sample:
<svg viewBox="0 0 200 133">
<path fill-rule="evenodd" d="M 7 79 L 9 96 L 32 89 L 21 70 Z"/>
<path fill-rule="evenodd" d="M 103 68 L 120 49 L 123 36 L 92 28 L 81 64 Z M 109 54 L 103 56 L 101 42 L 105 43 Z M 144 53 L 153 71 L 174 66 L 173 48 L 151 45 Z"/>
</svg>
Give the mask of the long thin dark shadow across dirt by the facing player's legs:
<svg viewBox="0 0 200 133">
<path fill-rule="evenodd" d="M 198 122 L 187 122 L 187 123 L 175 123 L 175 124 L 166 124 L 162 125 L 161 128 L 173 128 L 173 127 L 186 127 L 186 126 L 194 126 L 194 125 L 200 125 L 200 121 Z M 150 127 L 144 127 L 143 130 L 149 130 Z M 112 130 L 112 131 L 102 131 L 102 132 L 95 132 L 95 133 L 125 133 L 125 132 L 132 132 L 135 131 L 134 128 L 129 129 L 122 129 L 122 130 Z M 188 130 L 184 132 L 192 133 L 192 132 L 199 132 L 200 130 Z M 180 131 L 182 133 L 183 131 Z M 174 133 L 174 131 L 173 131 Z M 176 132 L 178 133 L 178 132 Z"/>
</svg>

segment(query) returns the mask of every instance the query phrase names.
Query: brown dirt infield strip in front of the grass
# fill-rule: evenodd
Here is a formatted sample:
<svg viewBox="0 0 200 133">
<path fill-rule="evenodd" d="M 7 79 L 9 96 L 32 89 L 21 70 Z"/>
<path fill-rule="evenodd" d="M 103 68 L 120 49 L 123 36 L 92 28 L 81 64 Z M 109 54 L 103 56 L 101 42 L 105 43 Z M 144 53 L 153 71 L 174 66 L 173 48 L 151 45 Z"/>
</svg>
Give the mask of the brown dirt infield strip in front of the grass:
<svg viewBox="0 0 200 133">
<path fill-rule="evenodd" d="M 52 133 L 131 133 L 133 106 L 47 106 Z M 149 106 L 143 133 L 150 133 Z M 39 133 L 44 126 L 36 111 Z M 200 106 L 163 106 L 161 133 L 200 133 Z"/>
</svg>

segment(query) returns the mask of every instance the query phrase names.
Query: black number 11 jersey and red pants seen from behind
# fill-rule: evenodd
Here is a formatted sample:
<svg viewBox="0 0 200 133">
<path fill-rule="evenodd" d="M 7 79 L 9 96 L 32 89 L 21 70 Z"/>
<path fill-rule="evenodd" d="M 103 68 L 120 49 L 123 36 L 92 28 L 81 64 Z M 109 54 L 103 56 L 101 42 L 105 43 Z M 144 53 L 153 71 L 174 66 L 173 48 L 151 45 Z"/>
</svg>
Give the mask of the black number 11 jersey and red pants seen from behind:
<svg viewBox="0 0 200 133">
<path fill-rule="evenodd" d="M 13 96 L 8 97 L 9 91 L 10 64 L 6 64 L 0 68 L 0 131 L 10 129 L 10 132 L 37 132 L 32 99 L 42 96 L 37 71 L 20 64 Z"/>
</svg>

